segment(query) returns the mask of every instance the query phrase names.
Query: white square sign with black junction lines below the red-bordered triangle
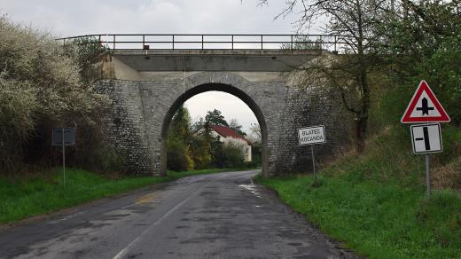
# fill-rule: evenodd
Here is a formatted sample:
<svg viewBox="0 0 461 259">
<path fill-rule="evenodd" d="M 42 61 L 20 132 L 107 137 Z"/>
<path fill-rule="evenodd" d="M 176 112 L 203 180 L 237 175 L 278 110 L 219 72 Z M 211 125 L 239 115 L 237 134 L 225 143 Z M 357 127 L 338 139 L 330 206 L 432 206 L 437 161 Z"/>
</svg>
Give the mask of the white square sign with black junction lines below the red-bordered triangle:
<svg viewBox="0 0 461 259">
<path fill-rule="evenodd" d="M 439 123 L 411 125 L 410 131 L 413 153 L 441 152 L 441 125 Z"/>
</svg>

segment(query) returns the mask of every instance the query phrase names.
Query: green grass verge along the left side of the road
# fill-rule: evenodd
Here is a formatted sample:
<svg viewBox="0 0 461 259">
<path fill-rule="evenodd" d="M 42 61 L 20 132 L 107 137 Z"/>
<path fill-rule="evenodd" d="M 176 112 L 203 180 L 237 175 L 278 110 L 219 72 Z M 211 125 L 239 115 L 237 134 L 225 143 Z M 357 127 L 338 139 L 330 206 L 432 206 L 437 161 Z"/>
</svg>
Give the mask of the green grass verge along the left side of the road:
<svg viewBox="0 0 461 259">
<path fill-rule="evenodd" d="M 0 177 L 0 224 L 37 216 L 62 208 L 128 192 L 180 177 L 211 174 L 230 169 L 168 171 L 166 177 L 119 177 L 111 179 L 82 169 L 66 170 L 66 187 L 59 170 L 28 177 Z"/>
</svg>

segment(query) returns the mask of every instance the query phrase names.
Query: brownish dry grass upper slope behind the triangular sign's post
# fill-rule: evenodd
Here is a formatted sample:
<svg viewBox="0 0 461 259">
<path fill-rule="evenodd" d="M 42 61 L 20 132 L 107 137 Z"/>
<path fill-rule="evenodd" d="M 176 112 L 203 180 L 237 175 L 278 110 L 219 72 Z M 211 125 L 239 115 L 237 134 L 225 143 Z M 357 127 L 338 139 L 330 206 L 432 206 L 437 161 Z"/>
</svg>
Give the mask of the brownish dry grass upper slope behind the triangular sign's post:
<svg viewBox="0 0 461 259">
<path fill-rule="evenodd" d="M 334 161 L 322 164 L 321 174 L 341 176 L 356 171 L 356 175 L 387 182 L 398 178 L 408 185 L 424 185 L 425 162 L 423 155 L 411 152 L 410 136 L 405 127 L 387 127 L 379 134 L 367 139 L 363 153 L 356 153 L 353 147 L 339 149 Z M 445 129 L 443 153 L 431 158 L 432 184 L 435 189 L 461 191 L 461 143 L 456 128 Z"/>
</svg>

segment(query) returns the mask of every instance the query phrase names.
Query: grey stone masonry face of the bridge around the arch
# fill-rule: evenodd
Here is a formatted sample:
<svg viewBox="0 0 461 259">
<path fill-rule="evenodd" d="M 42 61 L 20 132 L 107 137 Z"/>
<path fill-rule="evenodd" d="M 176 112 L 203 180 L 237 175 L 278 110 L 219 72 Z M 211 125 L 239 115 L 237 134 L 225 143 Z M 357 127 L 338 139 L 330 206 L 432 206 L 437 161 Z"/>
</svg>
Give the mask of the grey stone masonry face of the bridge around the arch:
<svg viewBox="0 0 461 259">
<path fill-rule="evenodd" d="M 298 145 L 298 129 L 324 124 L 326 145 L 316 145 L 323 160 L 345 143 L 348 131 L 340 103 L 318 88 L 299 90 L 286 82 L 248 82 L 229 72 L 201 72 L 185 80 L 102 80 L 98 89 L 113 100 L 106 132 L 135 174 L 161 175 L 166 169 L 165 130 L 176 109 L 207 90 L 241 98 L 254 111 L 263 135 L 266 176 L 310 171 L 310 148 Z"/>
</svg>

